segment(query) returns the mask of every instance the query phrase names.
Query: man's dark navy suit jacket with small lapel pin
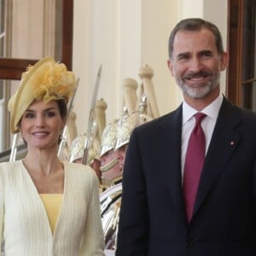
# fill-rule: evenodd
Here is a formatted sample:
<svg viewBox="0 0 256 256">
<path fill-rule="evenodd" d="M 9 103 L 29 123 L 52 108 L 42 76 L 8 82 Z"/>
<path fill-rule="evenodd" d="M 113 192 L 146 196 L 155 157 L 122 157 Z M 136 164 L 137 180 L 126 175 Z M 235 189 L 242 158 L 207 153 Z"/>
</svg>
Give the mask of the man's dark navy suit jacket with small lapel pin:
<svg viewBox="0 0 256 256">
<path fill-rule="evenodd" d="M 190 224 L 183 206 L 182 107 L 131 135 L 117 256 L 256 255 L 256 114 L 224 98 Z"/>
</svg>

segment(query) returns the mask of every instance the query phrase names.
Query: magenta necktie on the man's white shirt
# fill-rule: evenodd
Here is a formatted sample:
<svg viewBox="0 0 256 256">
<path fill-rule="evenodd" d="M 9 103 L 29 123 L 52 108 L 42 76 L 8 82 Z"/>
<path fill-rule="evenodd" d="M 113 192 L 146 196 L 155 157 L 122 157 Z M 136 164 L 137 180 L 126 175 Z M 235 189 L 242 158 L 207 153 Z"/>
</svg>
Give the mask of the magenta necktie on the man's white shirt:
<svg viewBox="0 0 256 256">
<path fill-rule="evenodd" d="M 195 114 L 195 127 L 189 137 L 189 143 L 184 164 L 183 197 L 190 222 L 195 204 L 195 196 L 201 177 L 201 170 L 205 160 L 206 138 L 201 129 L 201 121 L 206 117 L 205 113 Z"/>
</svg>

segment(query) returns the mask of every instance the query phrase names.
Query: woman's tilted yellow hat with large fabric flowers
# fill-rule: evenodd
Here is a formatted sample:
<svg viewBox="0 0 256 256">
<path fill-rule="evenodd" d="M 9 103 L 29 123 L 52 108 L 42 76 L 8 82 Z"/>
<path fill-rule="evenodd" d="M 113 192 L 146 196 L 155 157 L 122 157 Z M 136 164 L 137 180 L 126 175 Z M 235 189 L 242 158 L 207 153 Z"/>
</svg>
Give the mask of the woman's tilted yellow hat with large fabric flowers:
<svg viewBox="0 0 256 256">
<path fill-rule="evenodd" d="M 9 99 L 10 130 L 19 131 L 20 119 L 34 100 L 50 102 L 69 99 L 76 87 L 75 75 L 67 71 L 63 63 L 55 62 L 52 57 L 38 61 L 22 73 L 20 86 Z"/>
</svg>

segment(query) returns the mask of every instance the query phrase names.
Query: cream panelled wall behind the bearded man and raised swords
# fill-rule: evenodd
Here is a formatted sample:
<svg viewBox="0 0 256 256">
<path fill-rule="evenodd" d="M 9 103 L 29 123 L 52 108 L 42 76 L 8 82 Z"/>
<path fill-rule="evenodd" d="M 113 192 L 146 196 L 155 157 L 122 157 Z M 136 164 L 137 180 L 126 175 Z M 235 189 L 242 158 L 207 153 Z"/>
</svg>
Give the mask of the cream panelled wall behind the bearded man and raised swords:
<svg viewBox="0 0 256 256">
<path fill-rule="evenodd" d="M 86 131 L 96 73 L 102 64 L 97 98 L 108 103 L 107 122 L 121 113 L 122 80 L 141 80 L 139 68 L 154 69 L 154 90 L 160 114 L 182 101 L 167 66 L 167 41 L 172 27 L 187 17 L 202 17 L 218 25 L 226 44 L 225 0 L 84 0 L 74 1 L 73 71 L 80 79 L 73 110 L 79 134 Z M 221 79 L 224 91 L 223 75 Z"/>
</svg>

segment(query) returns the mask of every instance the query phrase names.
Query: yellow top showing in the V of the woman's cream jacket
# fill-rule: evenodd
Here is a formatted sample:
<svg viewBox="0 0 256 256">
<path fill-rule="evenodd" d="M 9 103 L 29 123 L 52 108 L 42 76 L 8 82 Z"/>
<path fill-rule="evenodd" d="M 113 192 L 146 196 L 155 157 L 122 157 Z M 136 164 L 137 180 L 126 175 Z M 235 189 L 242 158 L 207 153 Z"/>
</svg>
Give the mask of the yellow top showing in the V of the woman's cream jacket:
<svg viewBox="0 0 256 256">
<path fill-rule="evenodd" d="M 51 233 L 54 234 L 55 226 L 61 211 L 62 194 L 40 194 L 44 208 L 49 219 Z"/>
</svg>

